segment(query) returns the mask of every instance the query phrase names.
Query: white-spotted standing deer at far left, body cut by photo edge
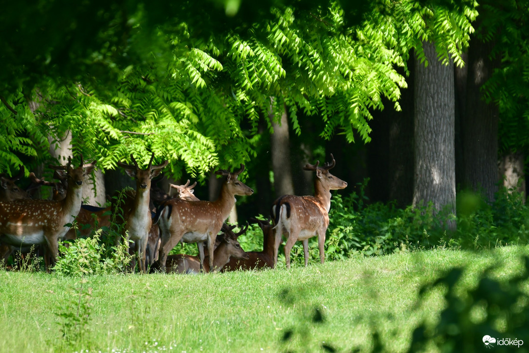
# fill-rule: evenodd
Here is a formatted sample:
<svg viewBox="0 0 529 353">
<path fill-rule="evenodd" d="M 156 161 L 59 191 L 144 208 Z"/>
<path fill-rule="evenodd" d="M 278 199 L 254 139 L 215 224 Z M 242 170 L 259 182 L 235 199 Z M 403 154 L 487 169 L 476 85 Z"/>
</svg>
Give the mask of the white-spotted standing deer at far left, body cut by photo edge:
<svg viewBox="0 0 529 353">
<path fill-rule="evenodd" d="M 96 162 L 71 167 L 71 157 L 66 166 L 53 166 L 68 178 L 67 196 L 56 200 L 15 200 L 0 202 L 0 243 L 15 247 L 44 245 L 45 253 L 51 256 L 52 263 L 57 260 L 58 240 L 68 231 L 65 224 L 74 221 L 81 208 L 83 178 L 92 172 Z M 44 259 L 47 257 L 45 256 Z M 50 269 L 49 261 L 46 263 Z"/>
</svg>

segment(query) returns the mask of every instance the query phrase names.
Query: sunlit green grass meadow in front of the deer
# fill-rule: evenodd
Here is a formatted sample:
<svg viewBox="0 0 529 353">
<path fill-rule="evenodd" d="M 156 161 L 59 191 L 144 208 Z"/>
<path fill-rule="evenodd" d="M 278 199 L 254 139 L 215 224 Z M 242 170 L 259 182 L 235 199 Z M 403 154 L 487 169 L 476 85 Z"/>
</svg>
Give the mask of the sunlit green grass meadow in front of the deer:
<svg viewBox="0 0 529 353">
<path fill-rule="evenodd" d="M 527 254 L 436 249 L 291 270 L 92 276 L 82 289 L 79 278 L 2 271 L 0 351 L 370 351 L 375 331 L 384 351 L 406 351 L 415 327 L 445 306 L 442 288 L 418 305 L 422 285 L 467 266 L 463 293 L 489 265 L 499 265 L 495 279 L 521 273 Z M 84 324 L 63 337 L 78 311 Z"/>
</svg>

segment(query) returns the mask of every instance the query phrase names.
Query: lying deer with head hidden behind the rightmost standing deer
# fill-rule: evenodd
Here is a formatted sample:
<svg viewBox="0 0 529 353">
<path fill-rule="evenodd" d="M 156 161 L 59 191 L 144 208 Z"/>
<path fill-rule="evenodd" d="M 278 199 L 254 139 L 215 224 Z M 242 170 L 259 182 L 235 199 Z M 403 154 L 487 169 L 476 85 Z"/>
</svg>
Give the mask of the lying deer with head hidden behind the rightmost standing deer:
<svg viewBox="0 0 529 353">
<path fill-rule="evenodd" d="M 272 229 L 270 219 L 266 221 L 251 219 L 256 222 L 263 231 L 263 251 L 247 251 L 248 259 L 232 258 L 229 263 L 224 266 L 223 271 L 234 271 L 238 269 L 263 269 L 274 268 L 273 263 L 273 245 L 275 239 L 275 231 Z"/>
</svg>

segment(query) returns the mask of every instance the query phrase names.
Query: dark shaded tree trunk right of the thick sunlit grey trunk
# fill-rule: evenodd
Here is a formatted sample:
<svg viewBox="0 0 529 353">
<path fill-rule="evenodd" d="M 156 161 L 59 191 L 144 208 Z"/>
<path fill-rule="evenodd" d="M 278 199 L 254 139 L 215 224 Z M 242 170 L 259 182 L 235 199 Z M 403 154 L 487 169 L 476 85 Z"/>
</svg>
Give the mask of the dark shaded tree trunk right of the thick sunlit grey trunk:
<svg viewBox="0 0 529 353">
<path fill-rule="evenodd" d="M 498 107 L 482 99 L 481 86 L 497 66 L 494 42 L 474 38 L 468 51 L 467 109 L 462 119 L 463 185 L 494 200 L 498 183 Z"/>
</svg>

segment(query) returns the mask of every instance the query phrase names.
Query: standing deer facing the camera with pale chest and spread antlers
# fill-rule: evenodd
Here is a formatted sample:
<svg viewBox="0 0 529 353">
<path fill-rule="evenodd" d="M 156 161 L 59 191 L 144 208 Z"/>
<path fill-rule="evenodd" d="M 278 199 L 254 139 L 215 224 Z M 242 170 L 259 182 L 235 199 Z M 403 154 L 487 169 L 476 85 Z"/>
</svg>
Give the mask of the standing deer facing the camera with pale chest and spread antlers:
<svg viewBox="0 0 529 353">
<path fill-rule="evenodd" d="M 145 250 L 147 249 L 149 231 L 152 227 L 152 215 L 151 210 L 149 210 L 151 179 L 157 177 L 161 169 L 169 163 L 166 160 L 160 165 L 153 166 L 153 159 L 154 153 L 152 153 L 147 169 L 141 169 L 132 154 L 131 160 L 134 162 L 134 165 L 117 162 L 118 166 L 124 168 L 126 173 L 136 180 L 136 191 L 126 195 L 125 203 L 122 206 L 122 235 L 126 237 L 127 247 L 129 240 L 134 241 L 134 249 L 138 253 L 140 270 L 143 273 L 147 271 L 145 266 Z M 115 212 L 114 207 L 115 205 L 113 205 L 113 213 Z M 134 265 L 135 262 L 133 261 L 132 268 L 134 268 Z"/>
</svg>

